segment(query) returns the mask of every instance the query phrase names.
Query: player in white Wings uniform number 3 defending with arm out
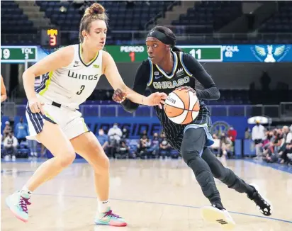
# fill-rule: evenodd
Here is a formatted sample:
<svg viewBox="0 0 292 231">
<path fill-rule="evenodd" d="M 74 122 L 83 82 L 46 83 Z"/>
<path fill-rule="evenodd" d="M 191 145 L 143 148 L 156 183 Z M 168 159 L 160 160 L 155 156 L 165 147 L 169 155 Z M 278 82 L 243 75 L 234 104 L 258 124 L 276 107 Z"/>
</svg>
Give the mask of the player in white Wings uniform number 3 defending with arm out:
<svg viewBox="0 0 292 231">
<path fill-rule="evenodd" d="M 123 89 L 127 98 L 148 106 L 162 106 L 167 95 L 155 93 L 148 97 L 125 86 L 111 55 L 104 52 L 108 17 L 100 4 L 92 4 L 82 17 L 80 45 L 64 47 L 26 70 L 23 84 L 28 97 L 26 117 L 30 129 L 28 139 L 43 143 L 54 155 L 35 171 L 23 188 L 6 198 L 16 217 L 28 221 L 30 195 L 45 181 L 57 176 L 80 154 L 94 168 L 98 198 L 96 224 L 125 226 L 123 218 L 112 212 L 109 201 L 109 163 L 93 133 L 90 133 L 79 104 L 86 101 L 105 74 L 113 89 Z M 34 89 L 35 77 L 47 74 L 43 84 Z M 98 118 L 96 118 L 98 120 Z M 76 208 L 78 209 L 78 208 Z"/>
</svg>

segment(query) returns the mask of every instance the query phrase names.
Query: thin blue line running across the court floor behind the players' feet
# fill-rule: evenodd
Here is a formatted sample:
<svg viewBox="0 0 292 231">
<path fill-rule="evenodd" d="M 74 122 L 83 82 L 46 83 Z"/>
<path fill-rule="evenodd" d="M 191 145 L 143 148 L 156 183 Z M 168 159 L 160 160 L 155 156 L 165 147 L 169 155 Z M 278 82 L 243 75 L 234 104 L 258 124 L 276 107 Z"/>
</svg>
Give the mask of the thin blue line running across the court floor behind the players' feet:
<svg viewBox="0 0 292 231">
<path fill-rule="evenodd" d="M 4 192 L 1 192 L 1 194 L 4 194 Z M 59 196 L 59 194 L 46 194 L 46 193 L 33 193 L 33 195 L 38 195 L 38 196 Z M 96 199 L 94 196 L 77 196 L 77 195 L 62 195 L 64 197 L 71 197 L 71 198 L 89 198 L 89 199 Z M 200 207 L 197 206 L 192 206 L 192 205 L 178 205 L 178 204 L 172 204 L 172 203 L 161 203 L 161 202 L 155 202 L 155 201 L 137 201 L 137 200 L 128 200 L 128 199 L 118 199 L 118 198 L 109 198 L 110 200 L 113 201 L 128 201 L 128 202 L 133 202 L 133 203 L 150 203 L 150 204 L 156 204 L 156 205 L 169 205 L 169 206 L 176 206 L 176 207 L 184 207 L 184 208 L 196 208 L 199 209 Z M 254 205 L 255 206 L 255 205 Z M 261 215 L 253 215 L 249 213 L 238 213 L 238 212 L 232 212 L 228 211 L 229 213 L 234 213 L 238 215 L 246 215 L 249 217 L 254 217 L 254 218 L 263 218 L 267 220 L 276 220 L 276 221 L 281 221 L 281 222 L 286 222 L 292 224 L 292 220 L 283 220 L 279 218 L 269 218 L 269 217 L 264 217 Z"/>
</svg>

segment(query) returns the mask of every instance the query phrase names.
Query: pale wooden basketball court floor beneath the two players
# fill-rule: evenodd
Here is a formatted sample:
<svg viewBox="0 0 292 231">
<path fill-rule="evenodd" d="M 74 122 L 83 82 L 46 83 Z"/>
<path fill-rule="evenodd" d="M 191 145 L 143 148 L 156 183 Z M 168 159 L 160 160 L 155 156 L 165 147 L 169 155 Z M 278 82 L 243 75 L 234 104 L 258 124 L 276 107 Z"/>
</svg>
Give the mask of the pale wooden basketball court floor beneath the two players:
<svg viewBox="0 0 292 231">
<path fill-rule="evenodd" d="M 56 179 L 40 186 L 32 196 L 30 220 L 14 218 L 5 198 L 23 186 L 40 162 L 1 163 L 1 230 L 103 231 L 103 230 L 221 230 L 201 218 L 199 208 L 209 205 L 189 167 L 179 160 L 111 160 L 111 205 L 128 227 L 94 225 L 96 196 L 93 170 L 77 160 Z M 223 205 L 238 231 L 292 230 L 292 169 L 250 160 L 225 164 L 249 183 L 257 184 L 274 206 L 266 218 L 244 194 L 217 181 Z"/>
</svg>

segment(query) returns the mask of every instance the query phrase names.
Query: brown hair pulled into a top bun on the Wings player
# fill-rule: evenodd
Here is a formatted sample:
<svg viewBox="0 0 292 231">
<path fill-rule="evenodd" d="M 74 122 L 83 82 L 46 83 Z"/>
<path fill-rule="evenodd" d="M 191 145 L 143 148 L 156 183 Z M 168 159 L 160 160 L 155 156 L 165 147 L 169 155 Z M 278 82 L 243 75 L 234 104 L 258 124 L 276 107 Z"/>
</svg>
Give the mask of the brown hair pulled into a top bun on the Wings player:
<svg viewBox="0 0 292 231">
<path fill-rule="evenodd" d="M 90 24 L 94 20 L 102 20 L 102 21 L 105 21 L 106 24 L 108 24 L 108 15 L 106 14 L 106 9 L 104 9 L 104 7 L 101 6 L 101 4 L 94 3 L 91 6 L 86 8 L 84 15 L 80 21 L 80 27 L 79 27 L 80 43 L 82 43 L 84 40 L 82 31 L 86 30 L 86 32 L 89 33 Z"/>
</svg>

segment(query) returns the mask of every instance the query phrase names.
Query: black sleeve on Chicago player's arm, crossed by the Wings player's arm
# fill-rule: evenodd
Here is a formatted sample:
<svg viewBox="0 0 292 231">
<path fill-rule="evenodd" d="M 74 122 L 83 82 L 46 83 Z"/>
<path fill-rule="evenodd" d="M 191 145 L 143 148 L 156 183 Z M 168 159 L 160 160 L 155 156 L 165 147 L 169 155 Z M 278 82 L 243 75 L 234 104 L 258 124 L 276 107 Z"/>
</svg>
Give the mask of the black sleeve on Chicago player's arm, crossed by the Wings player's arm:
<svg viewBox="0 0 292 231">
<path fill-rule="evenodd" d="M 142 62 L 140 66 L 137 69 L 136 75 L 135 75 L 135 81 L 133 86 L 133 91 L 136 91 L 137 93 L 144 95 L 145 89 L 147 87 L 147 82 L 150 78 L 150 64 L 149 61 Z M 122 103 L 120 103 L 125 111 L 128 111 L 130 113 L 133 113 L 137 110 L 139 104 L 133 103 L 128 98 L 125 99 Z"/>
</svg>

